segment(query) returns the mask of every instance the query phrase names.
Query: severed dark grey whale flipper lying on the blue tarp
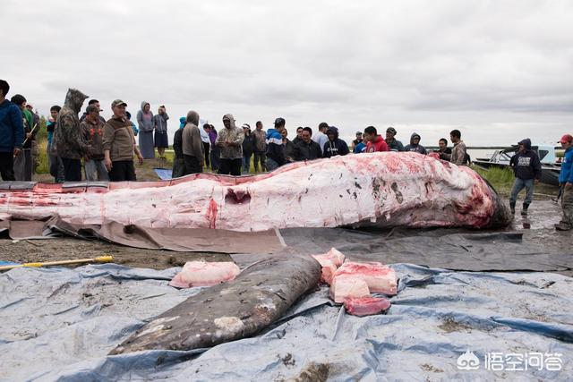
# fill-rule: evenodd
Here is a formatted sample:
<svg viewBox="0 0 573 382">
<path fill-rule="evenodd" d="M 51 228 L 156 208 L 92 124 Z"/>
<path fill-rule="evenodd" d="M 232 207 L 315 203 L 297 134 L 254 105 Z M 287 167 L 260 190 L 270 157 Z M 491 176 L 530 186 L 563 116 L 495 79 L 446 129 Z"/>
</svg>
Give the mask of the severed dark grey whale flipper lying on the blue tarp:
<svg viewBox="0 0 573 382">
<path fill-rule="evenodd" d="M 211 286 L 152 319 L 109 354 L 200 349 L 255 335 L 320 279 L 321 266 L 311 256 L 263 259 L 234 281 Z"/>
</svg>

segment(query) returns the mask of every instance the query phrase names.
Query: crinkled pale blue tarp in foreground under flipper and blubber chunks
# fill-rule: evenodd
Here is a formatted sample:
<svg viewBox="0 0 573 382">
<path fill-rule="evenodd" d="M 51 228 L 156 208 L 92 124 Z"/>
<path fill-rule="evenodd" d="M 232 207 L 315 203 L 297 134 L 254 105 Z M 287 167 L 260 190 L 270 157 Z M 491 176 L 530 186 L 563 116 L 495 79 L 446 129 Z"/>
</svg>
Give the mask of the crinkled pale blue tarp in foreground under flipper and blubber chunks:
<svg viewBox="0 0 573 382">
<path fill-rule="evenodd" d="M 392 267 L 399 293 L 385 315 L 349 316 L 323 287 L 256 337 L 207 351 L 118 356 L 107 352 L 200 291 L 167 285 L 179 268 L 13 269 L 0 275 L 0 379 L 536 381 L 573 375 L 573 279 Z M 459 369 L 465 352 L 480 362 L 477 369 Z M 527 359 L 539 352 L 553 366 L 511 371 L 508 364 L 500 370 L 499 357 L 497 370 L 485 363 L 492 354 Z"/>
</svg>

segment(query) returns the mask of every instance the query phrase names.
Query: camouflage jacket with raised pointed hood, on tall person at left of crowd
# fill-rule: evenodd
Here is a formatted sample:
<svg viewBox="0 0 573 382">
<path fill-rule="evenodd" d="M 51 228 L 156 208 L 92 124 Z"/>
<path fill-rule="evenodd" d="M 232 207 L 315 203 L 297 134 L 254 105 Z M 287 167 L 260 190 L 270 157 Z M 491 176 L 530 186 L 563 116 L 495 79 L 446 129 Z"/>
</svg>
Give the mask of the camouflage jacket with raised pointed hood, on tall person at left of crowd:
<svg viewBox="0 0 573 382">
<path fill-rule="evenodd" d="M 90 152 L 88 142 L 83 138 L 78 114 L 83 101 L 88 98 L 78 89 L 68 89 L 65 95 L 64 107 L 57 115 L 54 140 L 59 157 L 80 159 Z"/>
</svg>

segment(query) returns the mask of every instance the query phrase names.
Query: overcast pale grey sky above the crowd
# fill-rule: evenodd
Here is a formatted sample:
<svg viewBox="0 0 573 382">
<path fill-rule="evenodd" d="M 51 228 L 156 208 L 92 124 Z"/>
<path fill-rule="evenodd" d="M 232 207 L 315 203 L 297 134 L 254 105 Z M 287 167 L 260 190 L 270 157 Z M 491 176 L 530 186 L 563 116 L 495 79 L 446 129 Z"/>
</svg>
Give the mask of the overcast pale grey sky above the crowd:
<svg viewBox="0 0 573 382">
<path fill-rule="evenodd" d="M 217 128 L 325 121 L 436 145 L 573 133 L 573 2 L 2 0 L 0 78 L 47 115 L 68 88 Z M 87 105 L 87 103 L 86 103 Z"/>
</svg>

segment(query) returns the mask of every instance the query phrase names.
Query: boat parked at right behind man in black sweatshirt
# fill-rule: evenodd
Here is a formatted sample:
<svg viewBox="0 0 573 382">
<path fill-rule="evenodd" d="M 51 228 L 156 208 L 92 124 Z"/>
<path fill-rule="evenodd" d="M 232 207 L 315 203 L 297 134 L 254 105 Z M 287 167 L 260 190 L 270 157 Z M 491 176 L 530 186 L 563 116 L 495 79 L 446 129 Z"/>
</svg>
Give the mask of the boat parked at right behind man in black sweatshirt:
<svg viewBox="0 0 573 382">
<path fill-rule="evenodd" d="M 478 157 L 473 161 L 473 164 L 484 169 L 491 167 L 509 167 L 509 161 L 511 157 L 516 155 L 517 149 L 519 149 L 519 147 L 516 145 L 507 149 L 496 150 L 493 152 L 492 157 Z M 532 146 L 531 149 L 537 153 L 541 160 L 540 182 L 558 186 L 561 164 L 555 147 L 551 145 L 535 145 Z"/>
</svg>

